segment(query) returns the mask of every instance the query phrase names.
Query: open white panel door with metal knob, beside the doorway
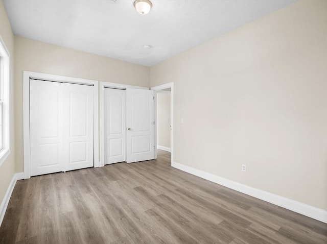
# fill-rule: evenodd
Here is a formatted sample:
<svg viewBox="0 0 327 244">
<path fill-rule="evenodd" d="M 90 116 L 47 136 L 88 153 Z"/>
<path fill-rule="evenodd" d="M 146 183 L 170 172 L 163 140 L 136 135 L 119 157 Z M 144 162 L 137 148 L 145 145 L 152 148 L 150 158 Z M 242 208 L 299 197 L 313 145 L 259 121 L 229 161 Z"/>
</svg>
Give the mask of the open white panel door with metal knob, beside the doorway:
<svg viewBox="0 0 327 244">
<path fill-rule="evenodd" d="M 127 162 L 154 159 L 154 98 L 152 90 L 126 89 Z"/>
</svg>

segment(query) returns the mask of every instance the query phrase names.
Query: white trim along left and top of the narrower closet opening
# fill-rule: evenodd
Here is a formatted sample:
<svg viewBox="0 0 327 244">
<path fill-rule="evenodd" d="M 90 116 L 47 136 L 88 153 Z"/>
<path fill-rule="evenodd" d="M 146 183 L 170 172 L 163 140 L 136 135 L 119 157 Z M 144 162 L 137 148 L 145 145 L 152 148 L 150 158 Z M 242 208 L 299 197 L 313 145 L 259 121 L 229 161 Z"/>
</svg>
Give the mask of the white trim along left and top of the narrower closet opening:
<svg viewBox="0 0 327 244">
<path fill-rule="evenodd" d="M 136 88 L 136 89 L 146 89 L 149 90 L 148 87 L 141 87 L 141 86 L 131 86 L 131 85 L 124 85 L 119 83 L 111 83 L 111 82 L 104 82 L 100 81 L 100 161 L 99 167 L 104 166 L 104 88 L 114 88 L 114 89 L 123 89 L 126 88 Z M 126 137 L 126 135 L 125 135 Z"/>
</svg>

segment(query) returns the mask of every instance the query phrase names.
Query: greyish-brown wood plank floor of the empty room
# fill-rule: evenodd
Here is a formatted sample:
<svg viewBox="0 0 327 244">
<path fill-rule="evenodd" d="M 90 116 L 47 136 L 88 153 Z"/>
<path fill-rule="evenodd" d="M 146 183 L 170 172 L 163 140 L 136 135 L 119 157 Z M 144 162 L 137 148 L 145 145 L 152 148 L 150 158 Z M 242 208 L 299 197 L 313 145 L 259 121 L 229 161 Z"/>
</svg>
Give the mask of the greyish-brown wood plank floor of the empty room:
<svg viewBox="0 0 327 244">
<path fill-rule="evenodd" d="M 327 243 L 327 225 L 170 166 L 170 154 L 17 182 L 0 243 Z"/>
</svg>

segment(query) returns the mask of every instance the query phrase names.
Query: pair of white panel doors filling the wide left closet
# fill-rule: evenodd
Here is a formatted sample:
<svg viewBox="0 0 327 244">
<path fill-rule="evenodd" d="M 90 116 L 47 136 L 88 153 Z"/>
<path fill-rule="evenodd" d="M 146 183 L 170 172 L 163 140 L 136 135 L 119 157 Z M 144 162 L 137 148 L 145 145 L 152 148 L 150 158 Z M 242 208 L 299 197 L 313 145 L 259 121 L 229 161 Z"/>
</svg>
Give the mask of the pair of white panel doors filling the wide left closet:
<svg viewBox="0 0 327 244">
<path fill-rule="evenodd" d="M 94 165 L 93 89 L 30 80 L 31 176 Z"/>
</svg>

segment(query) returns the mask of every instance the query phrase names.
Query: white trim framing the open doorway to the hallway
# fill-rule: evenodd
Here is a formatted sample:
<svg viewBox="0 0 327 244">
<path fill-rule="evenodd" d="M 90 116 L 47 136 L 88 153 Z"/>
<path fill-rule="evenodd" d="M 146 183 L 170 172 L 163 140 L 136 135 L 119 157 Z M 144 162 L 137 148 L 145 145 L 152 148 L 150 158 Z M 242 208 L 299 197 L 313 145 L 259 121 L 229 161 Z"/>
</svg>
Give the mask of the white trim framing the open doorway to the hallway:
<svg viewBox="0 0 327 244">
<path fill-rule="evenodd" d="M 151 90 L 154 90 L 154 119 L 157 118 L 157 92 L 164 89 L 171 88 L 170 95 L 170 120 L 172 129 L 170 131 L 170 148 L 171 148 L 171 164 L 174 162 L 174 82 L 166 83 L 160 86 L 151 87 Z M 157 122 L 154 125 L 154 145 L 157 147 Z M 154 158 L 157 158 L 157 148 L 154 150 Z"/>
</svg>

